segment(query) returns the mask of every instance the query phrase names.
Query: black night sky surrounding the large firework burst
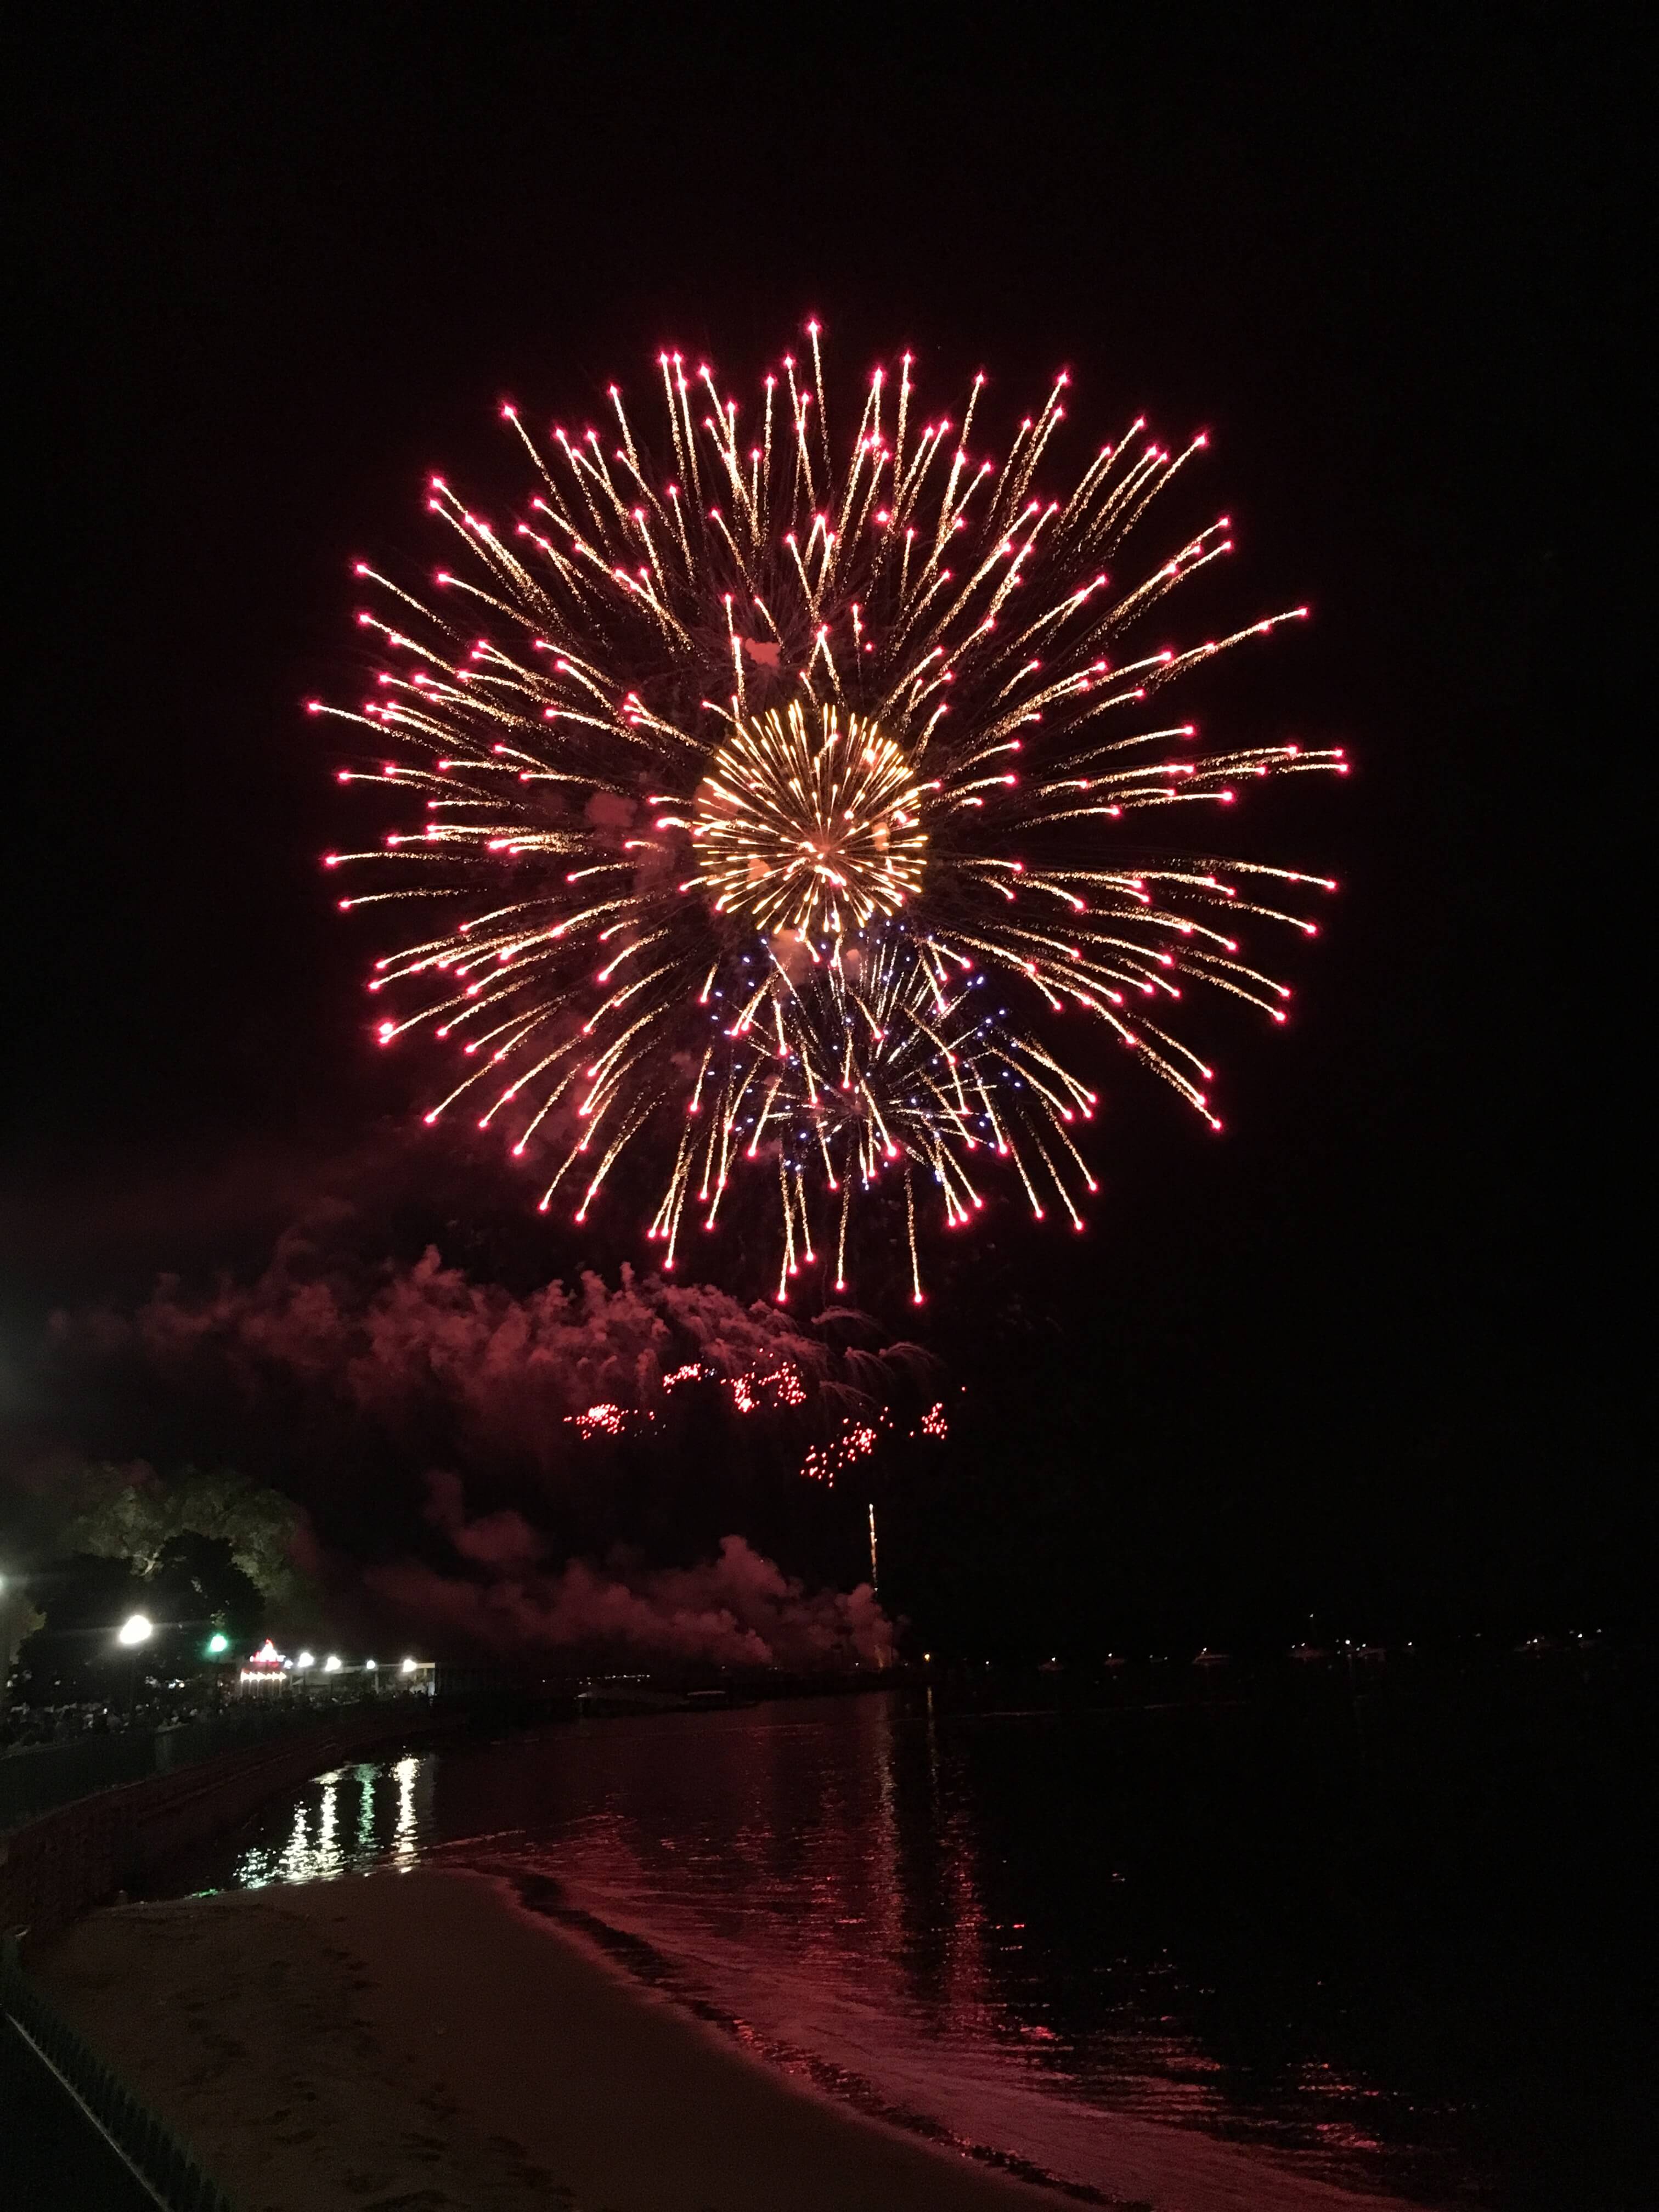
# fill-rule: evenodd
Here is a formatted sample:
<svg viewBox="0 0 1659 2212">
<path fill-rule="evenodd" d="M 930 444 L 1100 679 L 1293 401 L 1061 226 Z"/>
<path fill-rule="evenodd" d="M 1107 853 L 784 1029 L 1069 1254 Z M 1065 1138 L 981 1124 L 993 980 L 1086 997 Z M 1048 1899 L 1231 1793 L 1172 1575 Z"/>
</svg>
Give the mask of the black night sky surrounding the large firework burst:
<svg viewBox="0 0 1659 2212">
<path fill-rule="evenodd" d="M 427 1190 L 389 1237 L 568 1267 L 493 1161 L 411 1159 L 299 701 L 422 471 L 515 482 L 504 392 L 580 411 L 664 338 L 745 383 L 818 312 L 847 376 L 909 343 L 1015 411 L 1066 363 L 1091 429 L 1208 425 L 1230 591 L 1316 611 L 1243 703 L 1360 763 L 1259 810 L 1345 894 L 1292 1031 L 1212 1031 L 1225 1139 L 1126 1088 L 1086 1243 L 945 1272 L 978 1411 L 918 1604 L 1628 1615 L 1630 58 L 1557 7 L 529 20 L 69 15 L 13 58 L 18 1405 L 49 1305 L 257 1270 L 365 1159 Z"/>
</svg>

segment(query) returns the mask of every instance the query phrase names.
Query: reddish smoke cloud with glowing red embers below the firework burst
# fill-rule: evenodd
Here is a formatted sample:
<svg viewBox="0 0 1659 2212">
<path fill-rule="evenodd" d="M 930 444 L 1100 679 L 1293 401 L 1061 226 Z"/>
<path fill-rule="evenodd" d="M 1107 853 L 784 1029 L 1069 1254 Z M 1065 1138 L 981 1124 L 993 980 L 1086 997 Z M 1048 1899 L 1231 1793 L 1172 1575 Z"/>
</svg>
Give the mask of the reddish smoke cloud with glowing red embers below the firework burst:
<svg viewBox="0 0 1659 2212">
<path fill-rule="evenodd" d="M 75 1442 L 246 1467 L 307 1511 L 341 1601 L 456 1650 L 883 1657 L 869 1586 L 810 1586 L 852 1579 L 863 1515 L 801 1469 L 849 1416 L 891 1429 L 925 1354 L 628 1267 L 518 1294 L 434 1248 L 365 1261 L 341 1228 L 290 1230 L 254 1281 L 55 1316 L 55 1396 L 102 1420 Z"/>
</svg>

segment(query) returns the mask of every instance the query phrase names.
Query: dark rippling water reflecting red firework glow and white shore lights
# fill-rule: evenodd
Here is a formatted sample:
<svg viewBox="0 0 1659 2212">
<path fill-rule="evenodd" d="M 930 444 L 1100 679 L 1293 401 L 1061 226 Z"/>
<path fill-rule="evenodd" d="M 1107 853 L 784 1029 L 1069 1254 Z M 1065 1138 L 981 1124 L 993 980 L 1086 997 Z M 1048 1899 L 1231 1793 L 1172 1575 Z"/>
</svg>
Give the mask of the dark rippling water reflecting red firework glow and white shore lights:
<svg viewBox="0 0 1659 2212">
<path fill-rule="evenodd" d="M 1248 2148 L 1263 2208 L 1635 2205 L 1639 2062 L 1557 1986 L 1608 1971 L 1597 1929 L 1535 1887 L 1537 1792 L 1509 1858 L 1502 1792 L 1458 1809 L 1464 1752 L 1402 1816 L 1363 1736 L 1248 1712 L 593 1721 L 325 1774 L 190 1887 L 493 1871 L 772 2064 L 1084 2201 L 1124 2194 L 1113 2119 Z"/>
</svg>

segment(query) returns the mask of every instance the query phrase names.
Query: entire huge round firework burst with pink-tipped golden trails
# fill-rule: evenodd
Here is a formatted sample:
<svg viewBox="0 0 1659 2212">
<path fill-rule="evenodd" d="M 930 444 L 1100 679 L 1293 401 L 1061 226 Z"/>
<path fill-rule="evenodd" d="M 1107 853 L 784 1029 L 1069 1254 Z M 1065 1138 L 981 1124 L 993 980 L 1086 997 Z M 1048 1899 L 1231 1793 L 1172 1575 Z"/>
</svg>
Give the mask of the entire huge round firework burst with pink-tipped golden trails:
<svg viewBox="0 0 1659 2212">
<path fill-rule="evenodd" d="M 431 480 L 460 566 L 422 597 L 358 564 L 383 664 L 356 710 L 312 703 L 374 741 L 341 783 L 418 814 L 327 865 L 385 878 L 343 909 L 447 902 L 376 962 L 369 991 L 400 1009 L 378 1035 L 456 1040 L 427 1119 L 549 1144 L 542 1208 L 564 1190 L 584 1221 L 648 1148 L 670 1166 L 646 1234 L 675 1267 L 688 1219 L 712 1230 L 754 1170 L 779 1192 L 785 1298 L 818 1252 L 845 1283 L 852 1199 L 902 1186 L 920 1301 L 918 1183 L 960 1228 L 998 1161 L 1033 1214 L 1057 1201 L 1084 1225 L 1075 1128 L 1097 1093 L 1060 1057 L 1062 1015 L 1212 1128 L 1212 1071 L 1168 1026 L 1183 991 L 1285 1020 L 1239 925 L 1312 936 L 1279 900 L 1334 885 L 1155 856 L 1130 818 L 1345 761 L 1199 752 L 1152 706 L 1305 615 L 1148 635 L 1232 551 L 1225 518 L 1115 577 L 1203 438 L 1172 453 L 1135 422 L 1053 493 L 1064 376 L 995 462 L 969 449 L 984 380 L 960 427 L 918 429 L 905 356 L 896 405 L 878 369 L 836 462 L 810 336 L 810 374 L 785 356 L 752 427 L 706 365 L 664 354 L 664 458 L 617 387 L 619 445 L 560 425 L 542 445 L 507 407 L 538 471 L 507 529 Z"/>
</svg>

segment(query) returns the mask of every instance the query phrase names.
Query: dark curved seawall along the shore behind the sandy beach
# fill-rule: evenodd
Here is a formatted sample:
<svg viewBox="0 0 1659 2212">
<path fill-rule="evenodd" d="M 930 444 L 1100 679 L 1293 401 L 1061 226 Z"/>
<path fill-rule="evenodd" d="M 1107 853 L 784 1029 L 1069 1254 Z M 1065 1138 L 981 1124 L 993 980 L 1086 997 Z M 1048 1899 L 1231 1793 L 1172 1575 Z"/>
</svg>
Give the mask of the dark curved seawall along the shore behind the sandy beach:
<svg viewBox="0 0 1659 2212">
<path fill-rule="evenodd" d="M 0 1836 L 0 1931 L 60 1929 L 321 1767 L 398 1743 L 429 1743 L 465 1721 L 465 1712 L 442 1708 L 429 1717 L 358 1708 L 60 1805 Z"/>
</svg>

